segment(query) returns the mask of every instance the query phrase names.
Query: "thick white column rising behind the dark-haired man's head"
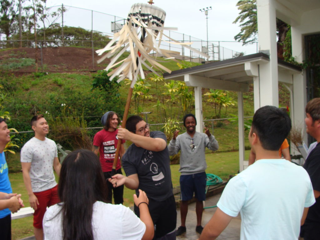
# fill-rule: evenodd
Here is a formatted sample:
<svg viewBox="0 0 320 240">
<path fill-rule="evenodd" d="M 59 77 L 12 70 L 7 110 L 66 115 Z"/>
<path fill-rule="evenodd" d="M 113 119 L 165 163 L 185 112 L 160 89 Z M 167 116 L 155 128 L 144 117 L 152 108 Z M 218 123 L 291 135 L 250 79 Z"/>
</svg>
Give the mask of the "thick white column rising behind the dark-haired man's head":
<svg viewBox="0 0 320 240">
<path fill-rule="evenodd" d="M 278 60 L 276 44 L 276 9 L 274 0 L 257 0 L 259 51 L 270 55 L 270 62 L 260 65 L 260 107 L 279 106 Z"/>
</svg>

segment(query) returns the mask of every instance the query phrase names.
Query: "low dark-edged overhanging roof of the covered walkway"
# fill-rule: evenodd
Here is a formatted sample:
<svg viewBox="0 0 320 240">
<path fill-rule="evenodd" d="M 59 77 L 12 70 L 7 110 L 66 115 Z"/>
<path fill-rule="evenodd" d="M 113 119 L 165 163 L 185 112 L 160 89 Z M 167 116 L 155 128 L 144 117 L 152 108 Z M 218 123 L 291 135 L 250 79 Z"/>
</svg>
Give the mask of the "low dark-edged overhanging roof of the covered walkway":
<svg viewBox="0 0 320 240">
<path fill-rule="evenodd" d="M 163 76 L 165 79 L 185 81 L 188 86 L 247 92 L 249 91 L 249 84 L 253 82 L 253 77 L 259 76 L 258 65 L 268 63 L 269 61 L 270 59 L 267 54 L 259 52 L 192 68 L 180 69 L 172 71 L 171 74 L 164 73 Z M 278 60 L 278 72 L 297 74 L 301 72 L 301 68 Z"/>
</svg>

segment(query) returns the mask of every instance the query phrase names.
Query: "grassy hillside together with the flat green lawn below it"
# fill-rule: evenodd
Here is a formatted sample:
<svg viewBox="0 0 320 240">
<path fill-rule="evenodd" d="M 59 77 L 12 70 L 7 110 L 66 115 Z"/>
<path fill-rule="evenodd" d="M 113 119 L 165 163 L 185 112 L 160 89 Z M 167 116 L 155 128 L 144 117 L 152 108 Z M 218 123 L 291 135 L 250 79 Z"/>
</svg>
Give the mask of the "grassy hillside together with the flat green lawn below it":
<svg viewBox="0 0 320 240">
<path fill-rule="evenodd" d="M 59 126 L 62 123 L 100 127 L 100 118 L 106 111 L 114 110 L 120 114 L 123 113 L 129 85 L 126 85 L 125 82 L 121 83 L 118 89 L 118 97 L 98 88 L 92 89 L 92 82 L 97 74 L 95 71 L 103 69 L 108 60 L 92 68 L 91 49 L 80 48 L 80 51 L 79 48 L 52 48 L 48 51 L 52 54 L 51 60 L 50 54 L 47 55 L 49 58 L 44 58 L 45 65 L 42 66 L 42 72 L 34 73 L 34 52 L 31 50 L 7 49 L 0 51 L 0 84 L 4 87 L 1 91 L 3 93 L 1 103 L 4 108 L 1 110 L 10 112 L 9 127 L 14 127 L 18 131 L 29 131 L 31 130 L 29 126 L 31 117 L 34 114 L 44 114 L 51 127 L 49 137 L 53 138 L 57 132 L 62 135 L 62 132 L 59 132 Z M 68 54 L 72 54 L 72 56 L 67 56 Z M 97 57 L 95 56 L 95 58 Z M 179 69 L 173 61 L 166 62 L 165 66 L 172 70 Z M 151 129 L 162 130 L 163 127 L 163 124 L 161 124 L 163 123 L 163 111 L 159 111 L 159 103 L 164 104 L 167 117 L 174 115 L 181 121 L 182 115 L 178 112 L 179 101 L 171 101 L 169 95 L 163 94 L 168 91 L 168 85 L 171 84 L 170 80 L 157 83 L 146 80 L 145 85 L 147 84 L 150 84 L 148 91 L 150 97 L 144 101 L 140 99 L 140 107 L 142 108 L 140 110 L 142 112 L 152 112 L 148 114 L 148 122 L 154 124 Z M 289 104 L 288 92 L 282 85 L 279 86 L 279 89 L 280 105 L 287 106 Z M 192 93 L 193 89 L 188 88 L 188 91 Z M 209 89 L 203 89 L 203 94 L 208 91 Z M 229 92 L 228 94 L 236 101 L 236 92 Z M 129 114 L 135 113 L 135 107 L 135 100 L 133 99 Z M 237 115 L 237 104 L 228 107 L 226 114 L 225 110 L 225 108 L 222 109 L 222 117 L 230 117 L 231 114 Z M 194 106 L 191 107 L 190 111 L 194 113 Z M 207 102 L 206 97 L 203 99 L 203 114 L 204 120 L 215 118 L 214 103 Z M 244 115 L 253 115 L 252 86 L 250 91 L 244 94 Z M 76 123 L 76 119 L 78 119 L 78 123 Z M 215 120 L 205 121 L 205 126 L 215 135 L 220 145 L 219 151 L 215 153 L 206 150 L 207 172 L 217 174 L 227 180 L 229 174 L 235 174 L 239 169 L 238 153 L 234 152 L 238 149 L 237 123 L 230 120 Z M 88 134 L 92 137 L 97 131 L 97 129 L 89 130 Z M 68 135 L 71 134 L 68 133 Z M 32 136 L 33 133 L 16 134 L 15 138 L 18 139 L 16 143 L 21 147 Z M 128 142 L 126 143 L 128 144 Z M 247 138 L 245 138 L 245 146 L 249 148 Z M 16 150 L 19 151 L 19 149 Z M 249 151 L 246 151 L 246 156 L 248 154 Z M 22 193 L 25 205 L 29 206 L 28 195 L 20 172 L 19 153 L 15 156 L 8 155 L 7 161 L 9 171 L 15 172 L 9 176 L 13 191 Z M 178 168 L 179 165 L 171 165 L 174 187 L 179 185 Z M 125 188 L 124 204 L 126 206 L 132 206 L 133 204 L 132 193 L 132 190 Z M 32 229 L 32 217 L 13 220 L 12 239 L 31 236 L 33 235 Z"/>
</svg>

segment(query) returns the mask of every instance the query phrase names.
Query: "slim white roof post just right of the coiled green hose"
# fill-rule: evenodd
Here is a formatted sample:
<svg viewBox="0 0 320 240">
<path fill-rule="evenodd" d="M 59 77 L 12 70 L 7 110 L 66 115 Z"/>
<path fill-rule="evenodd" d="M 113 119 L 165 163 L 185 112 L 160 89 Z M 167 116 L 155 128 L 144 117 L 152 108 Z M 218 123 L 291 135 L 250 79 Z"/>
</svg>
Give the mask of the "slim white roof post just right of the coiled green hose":
<svg viewBox="0 0 320 240">
<path fill-rule="evenodd" d="M 244 170 L 244 111 L 243 111 L 243 93 L 238 94 L 238 131 L 239 131 L 239 169 Z"/>
</svg>

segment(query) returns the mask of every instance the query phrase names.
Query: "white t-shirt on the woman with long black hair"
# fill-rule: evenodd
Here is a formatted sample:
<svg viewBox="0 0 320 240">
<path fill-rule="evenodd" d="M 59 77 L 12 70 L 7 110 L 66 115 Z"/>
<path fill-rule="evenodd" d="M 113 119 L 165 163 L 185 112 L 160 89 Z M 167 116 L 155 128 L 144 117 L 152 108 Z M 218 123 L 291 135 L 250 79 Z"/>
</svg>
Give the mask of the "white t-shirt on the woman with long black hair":
<svg viewBox="0 0 320 240">
<path fill-rule="evenodd" d="M 45 240 L 62 240 L 61 213 L 57 215 L 60 209 L 61 206 L 55 204 L 44 214 Z M 93 204 L 92 230 L 95 240 L 136 240 L 142 238 L 146 226 L 130 208 L 97 201 Z"/>
</svg>

